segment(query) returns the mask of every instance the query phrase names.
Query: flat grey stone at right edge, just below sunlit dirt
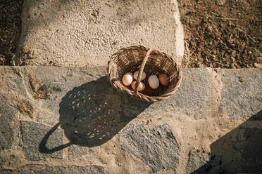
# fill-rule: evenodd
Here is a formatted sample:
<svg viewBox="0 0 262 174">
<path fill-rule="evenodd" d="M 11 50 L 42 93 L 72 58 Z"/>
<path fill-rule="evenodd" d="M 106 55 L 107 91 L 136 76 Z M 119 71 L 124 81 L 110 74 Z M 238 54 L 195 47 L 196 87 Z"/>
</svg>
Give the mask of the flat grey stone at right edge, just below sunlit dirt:
<svg viewBox="0 0 262 174">
<path fill-rule="evenodd" d="M 220 111 L 230 119 L 248 119 L 262 109 L 262 71 L 222 70 Z"/>
</svg>

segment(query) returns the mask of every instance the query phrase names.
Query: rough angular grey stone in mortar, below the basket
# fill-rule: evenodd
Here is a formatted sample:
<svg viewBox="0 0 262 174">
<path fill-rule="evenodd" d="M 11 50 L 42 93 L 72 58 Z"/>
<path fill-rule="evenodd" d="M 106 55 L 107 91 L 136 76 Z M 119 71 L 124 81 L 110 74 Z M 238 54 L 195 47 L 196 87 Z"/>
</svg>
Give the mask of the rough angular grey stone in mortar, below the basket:
<svg viewBox="0 0 262 174">
<path fill-rule="evenodd" d="M 120 133 L 121 147 L 144 163 L 153 172 L 175 169 L 179 163 L 180 149 L 168 124 L 147 128 L 131 124 Z"/>
</svg>

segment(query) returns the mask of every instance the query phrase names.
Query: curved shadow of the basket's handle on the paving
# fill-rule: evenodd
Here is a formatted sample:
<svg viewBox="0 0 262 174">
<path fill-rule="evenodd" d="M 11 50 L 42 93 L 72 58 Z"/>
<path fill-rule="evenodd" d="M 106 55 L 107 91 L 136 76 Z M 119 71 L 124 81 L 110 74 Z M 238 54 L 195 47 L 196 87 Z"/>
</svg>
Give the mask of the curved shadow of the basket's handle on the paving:
<svg viewBox="0 0 262 174">
<path fill-rule="evenodd" d="M 44 135 L 44 138 L 42 139 L 42 141 L 39 144 L 39 152 L 44 153 L 44 154 L 52 154 L 56 151 L 59 151 L 61 149 L 69 147 L 70 145 L 73 145 L 73 142 L 68 142 L 65 145 L 60 145 L 60 146 L 54 147 L 52 149 L 49 149 L 49 148 L 46 147 L 46 143 L 47 143 L 47 140 L 49 139 L 50 135 L 52 133 L 54 133 L 54 131 L 56 131 L 56 129 L 60 125 L 61 125 L 61 122 L 57 123 L 53 128 L 51 128 L 51 130 L 48 133 L 46 133 L 46 135 Z"/>
</svg>

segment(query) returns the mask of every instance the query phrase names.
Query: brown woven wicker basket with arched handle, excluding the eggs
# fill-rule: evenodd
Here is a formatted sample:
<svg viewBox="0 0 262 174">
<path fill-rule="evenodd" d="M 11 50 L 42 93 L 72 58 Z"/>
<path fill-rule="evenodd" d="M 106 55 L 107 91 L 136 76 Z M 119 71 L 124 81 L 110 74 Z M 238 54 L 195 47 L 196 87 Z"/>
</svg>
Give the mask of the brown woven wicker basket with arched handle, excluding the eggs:
<svg viewBox="0 0 262 174">
<path fill-rule="evenodd" d="M 122 78 L 125 73 L 134 73 L 139 70 L 135 91 L 131 86 L 124 86 Z M 143 91 L 137 91 L 140 83 L 142 71 L 146 73 L 144 84 L 146 88 Z M 166 53 L 154 50 L 154 48 L 145 48 L 144 46 L 130 46 L 120 49 L 114 53 L 108 61 L 108 80 L 120 91 L 147 102 L 157 102 L 169 98 L 180 86 L 182 79 L 180 68 L 173 58 Z M 168 86 L 161 84 L 156 89 L 149 87 L 148 78 L 150 75 L 165 73 L 170 77 Z"/>
</svg>

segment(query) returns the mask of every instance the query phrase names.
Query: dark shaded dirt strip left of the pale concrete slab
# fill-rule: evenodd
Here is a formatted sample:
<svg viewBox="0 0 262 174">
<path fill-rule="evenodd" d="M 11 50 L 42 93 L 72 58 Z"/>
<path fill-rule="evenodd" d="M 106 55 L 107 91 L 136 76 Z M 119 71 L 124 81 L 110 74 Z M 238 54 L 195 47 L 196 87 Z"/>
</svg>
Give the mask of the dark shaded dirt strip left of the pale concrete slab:
<svg viewBox="0 0 262 174">
<path fill-rule="evenodd" d="M 0 65 L 11 65 L 20 36 L 23 0 L 0 0 Z"/>
</svg>

